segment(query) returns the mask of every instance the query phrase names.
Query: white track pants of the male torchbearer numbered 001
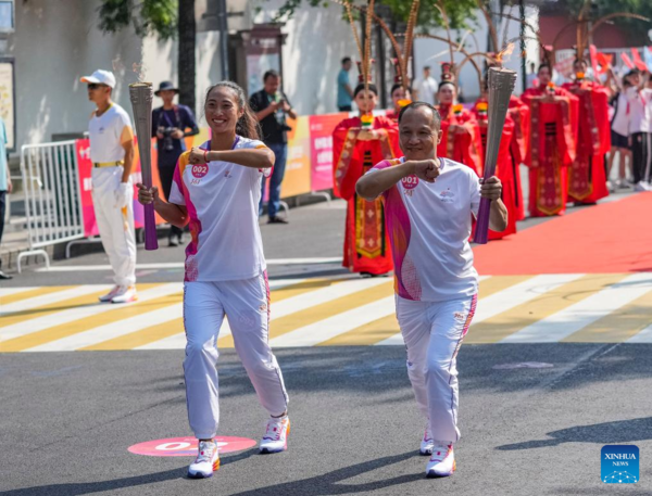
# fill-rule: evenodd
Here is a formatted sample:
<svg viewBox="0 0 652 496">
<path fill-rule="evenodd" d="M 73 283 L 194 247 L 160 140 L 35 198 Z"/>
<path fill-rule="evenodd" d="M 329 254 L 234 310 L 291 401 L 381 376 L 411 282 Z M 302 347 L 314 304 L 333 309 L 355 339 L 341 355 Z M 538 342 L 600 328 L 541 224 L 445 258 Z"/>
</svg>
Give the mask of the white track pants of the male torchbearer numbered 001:
<svg viewBox="0 0 652 496">
<path fill-rule="evenodd" d="M 413 302 L 397 296 L 397 317 L 408 348 L 408 376 L 432 438 L 460 440 L 456 356 L 477 296 L 450 302 Z"/>
</svg>

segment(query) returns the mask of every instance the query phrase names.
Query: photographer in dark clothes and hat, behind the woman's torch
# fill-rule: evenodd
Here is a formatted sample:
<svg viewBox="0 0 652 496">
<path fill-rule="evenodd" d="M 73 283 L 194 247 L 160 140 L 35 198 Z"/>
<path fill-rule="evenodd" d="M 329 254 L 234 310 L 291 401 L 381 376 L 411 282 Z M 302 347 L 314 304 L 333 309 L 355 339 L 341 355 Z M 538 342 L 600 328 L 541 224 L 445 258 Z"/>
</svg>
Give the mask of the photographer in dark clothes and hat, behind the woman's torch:
<svg viewBox="0 0 652 496">
<path fill-rule="evenodd" d="M 186 151 L 184 138 L 199 135 L 199 127 L 192 111 L 186 105 L 173 103 L 179 90 L 171 81 L 163 81 L 154 92 L 163 100 L 163 106 L 152 111 L 152 138 L 156 137 L 159 155 L 159 176 L 165 199 L 170 198 L 172 178 L 179 155 Z M 176 226 L 170 227 L 170 246 L 184 242 L 184 231 Z"/>
</svg>

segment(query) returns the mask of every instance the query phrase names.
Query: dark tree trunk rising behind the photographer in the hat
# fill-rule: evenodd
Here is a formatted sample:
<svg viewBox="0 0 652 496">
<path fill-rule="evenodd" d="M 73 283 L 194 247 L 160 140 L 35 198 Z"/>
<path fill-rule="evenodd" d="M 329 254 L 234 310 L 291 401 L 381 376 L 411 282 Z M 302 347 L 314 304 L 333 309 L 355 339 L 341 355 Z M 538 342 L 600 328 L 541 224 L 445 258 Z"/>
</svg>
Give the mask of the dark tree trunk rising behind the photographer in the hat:
<svg viewBox="0 0 652 496">
<path fill-rule="evenodd" d="M 179 74 L 179 103 L 188 105 L 197 115 L 195 100 L 195 49 L 196 31 L 195 25 L 195 0 L 179 1 L 179 48 L 178 48 L 178 74 Z"/>
</svg>

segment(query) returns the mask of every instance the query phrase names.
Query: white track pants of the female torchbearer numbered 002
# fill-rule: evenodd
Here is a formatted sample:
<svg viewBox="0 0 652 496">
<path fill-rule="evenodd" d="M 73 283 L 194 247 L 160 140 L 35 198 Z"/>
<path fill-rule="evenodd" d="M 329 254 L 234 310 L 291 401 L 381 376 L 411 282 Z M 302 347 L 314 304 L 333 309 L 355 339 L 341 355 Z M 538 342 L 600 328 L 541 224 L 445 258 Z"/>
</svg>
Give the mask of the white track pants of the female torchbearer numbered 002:
<svg viewBox="0 0 652 496">
<path fill-rule="evenodd" d="M 275 417 L 288 407 L 280 368 L 268 343 L 267 275 L 239 281 L 186 282 L 186 398 L 190 429 L 200 440 L 215 436 L 220 423 L 217 338 L 225 315 L 261 405 Z"/>
</svg>

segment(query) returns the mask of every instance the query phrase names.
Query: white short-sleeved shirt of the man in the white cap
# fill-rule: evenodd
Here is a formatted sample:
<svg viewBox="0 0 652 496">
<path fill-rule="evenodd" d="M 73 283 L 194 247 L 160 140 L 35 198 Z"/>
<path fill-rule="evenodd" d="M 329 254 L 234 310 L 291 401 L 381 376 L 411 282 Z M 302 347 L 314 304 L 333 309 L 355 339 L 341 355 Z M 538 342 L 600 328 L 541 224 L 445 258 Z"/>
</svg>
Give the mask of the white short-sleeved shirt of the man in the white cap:
<svg viewBox="0 0 652 496">
<path fill-rule="evenodd" d="M 90 161 L 102 163 L 124 160 L 125 149 L 122 143 L 134 139 L 129 114 L 117 103 L 112 103 L 99 117 L 96 112 L 88 124 Z"/>
</svg>

